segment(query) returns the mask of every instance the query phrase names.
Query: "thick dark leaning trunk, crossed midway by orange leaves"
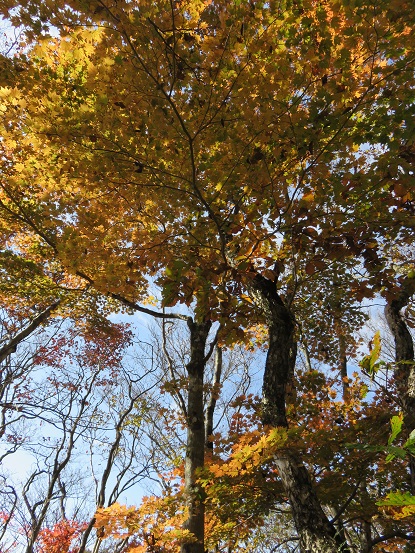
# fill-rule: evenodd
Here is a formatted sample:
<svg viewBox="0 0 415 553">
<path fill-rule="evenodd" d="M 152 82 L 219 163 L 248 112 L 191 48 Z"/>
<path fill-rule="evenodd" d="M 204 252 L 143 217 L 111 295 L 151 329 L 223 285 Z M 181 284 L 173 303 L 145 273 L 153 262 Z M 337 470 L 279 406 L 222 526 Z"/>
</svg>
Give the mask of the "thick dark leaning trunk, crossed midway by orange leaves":
<svg viewBox="0 0 415 553">
<path fill-rule="evenodd" d="M 263 311 L 268 325 L 262 423 L 264 426 L 287 427 L 286 395 L 293 377 L 297 349 L 294 317 L 278 295 L 275 282 L 256 275 L 249 285 L 249 292 Z M 281 450 L 275 463 L 290 502 L 302 553 L 349 551 L 325 515 L 300 454 L 290 448 Z"/>
</svg>

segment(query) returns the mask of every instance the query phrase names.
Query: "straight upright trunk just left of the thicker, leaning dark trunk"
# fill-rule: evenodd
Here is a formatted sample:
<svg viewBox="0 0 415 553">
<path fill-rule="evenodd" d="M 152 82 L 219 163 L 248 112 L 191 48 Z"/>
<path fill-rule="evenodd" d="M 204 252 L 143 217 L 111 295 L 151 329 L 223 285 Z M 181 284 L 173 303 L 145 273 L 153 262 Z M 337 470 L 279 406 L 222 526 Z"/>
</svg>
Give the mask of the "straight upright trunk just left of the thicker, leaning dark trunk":
<svg viewBox="0 0 415 553">
<path fill-rule="evenodd" d="M 196 541 L 183 543 L 181 553 L 204 553 L 205 507 L 203 491 L 196 481 L 196 471 L 203 467 L 205 459 L 203 377 L 206 365 L 206 340 L 211 322 L 197 323 L 189 319 L 188 325 L 190 329 L 190 361 L 186 366 L 189 389 L 184 470 L 188 518 L 184 528 L 193 534 Z"/>
</svg>

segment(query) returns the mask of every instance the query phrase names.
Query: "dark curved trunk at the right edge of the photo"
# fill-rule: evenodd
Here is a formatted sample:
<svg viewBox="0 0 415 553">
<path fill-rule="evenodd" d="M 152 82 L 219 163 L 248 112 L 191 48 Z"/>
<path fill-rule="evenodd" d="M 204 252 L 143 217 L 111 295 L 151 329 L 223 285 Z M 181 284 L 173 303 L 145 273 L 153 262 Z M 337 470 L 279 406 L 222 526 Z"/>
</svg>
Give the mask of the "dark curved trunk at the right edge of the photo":
<svg viewBox="0 0 415 553">
<path fill-rule="evenodd" d="M 404 411 L 406 435 L 415 429 L 415 363 L 414 344 L 411 333 L 401 315 L 401 309 L 407 305 L 412 286 L 401 289 L 401 293 L 389 301 L 385 307 L 386 321 L 395 340 L 395 361 L 397 368 L 395 379 L 400 403 Z M 415 494 L 415 459 L 410 457 L 409 470 L 411 491 Z"/>
</svg>

